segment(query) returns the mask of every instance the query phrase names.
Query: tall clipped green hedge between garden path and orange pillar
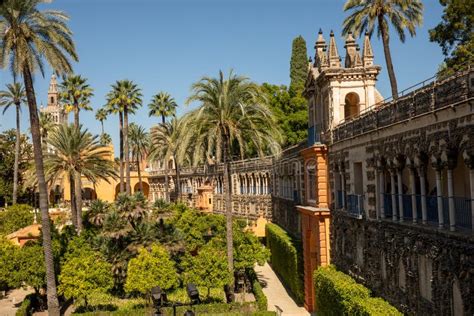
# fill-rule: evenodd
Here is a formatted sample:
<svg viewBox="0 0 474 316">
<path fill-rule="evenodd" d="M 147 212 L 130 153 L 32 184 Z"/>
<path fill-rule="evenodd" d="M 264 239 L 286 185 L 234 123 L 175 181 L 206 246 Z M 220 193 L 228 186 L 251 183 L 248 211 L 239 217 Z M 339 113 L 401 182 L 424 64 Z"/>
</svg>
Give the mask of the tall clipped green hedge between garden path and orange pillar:
<svg viewBox="0 0 474 316">
<path fill-rule="evenodd" d="M 267 224 L 265 232 L 273 270 L 293 294 L 296 302 L 303 303 L 303 256 L 299 251 L 301 245 L 276 224 Z"/>
</svg>

